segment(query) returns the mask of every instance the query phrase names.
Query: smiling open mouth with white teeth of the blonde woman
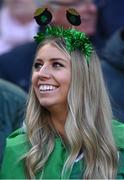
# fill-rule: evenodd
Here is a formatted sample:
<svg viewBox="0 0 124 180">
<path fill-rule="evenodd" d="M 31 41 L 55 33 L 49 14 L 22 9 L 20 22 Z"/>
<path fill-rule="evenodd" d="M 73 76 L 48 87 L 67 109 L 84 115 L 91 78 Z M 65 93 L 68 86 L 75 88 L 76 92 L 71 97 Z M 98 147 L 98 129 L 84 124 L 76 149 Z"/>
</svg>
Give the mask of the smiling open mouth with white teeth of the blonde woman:
<svg viewBox="0 0 124 180">
<path fill-rule="evenodd" d="M 55 85 L 42 84 L 39 86 L 40 93 L 53 92 L 56 89 L 58 89 L 58 86 Z"/>
</svg>

